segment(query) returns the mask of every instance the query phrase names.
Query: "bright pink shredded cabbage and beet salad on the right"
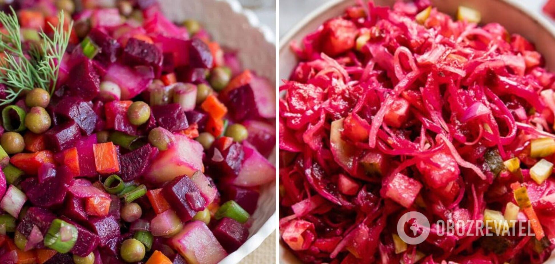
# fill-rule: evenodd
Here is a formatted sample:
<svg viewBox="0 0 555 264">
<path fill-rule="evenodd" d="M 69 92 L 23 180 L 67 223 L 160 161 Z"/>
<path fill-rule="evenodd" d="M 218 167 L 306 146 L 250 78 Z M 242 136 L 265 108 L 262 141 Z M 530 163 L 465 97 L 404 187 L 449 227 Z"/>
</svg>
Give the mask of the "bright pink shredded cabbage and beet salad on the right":
<svg viewBox="0 0 555 264">
<path fill-rule="evenodd" d="M 299 63 L 280 87 L 280 234 L 302 262 L 548 259 L 555 77 L 533 43 L 480 19 L 462 6 L 455 19 L 428 1 L 360 1 L 291 44 Z M 425 227 L 397 231 L 409 211 L 431 223 L 417 245 L 401 228 Z M 524 228 L 509 235 L 516 221 Z"/>
</svg>

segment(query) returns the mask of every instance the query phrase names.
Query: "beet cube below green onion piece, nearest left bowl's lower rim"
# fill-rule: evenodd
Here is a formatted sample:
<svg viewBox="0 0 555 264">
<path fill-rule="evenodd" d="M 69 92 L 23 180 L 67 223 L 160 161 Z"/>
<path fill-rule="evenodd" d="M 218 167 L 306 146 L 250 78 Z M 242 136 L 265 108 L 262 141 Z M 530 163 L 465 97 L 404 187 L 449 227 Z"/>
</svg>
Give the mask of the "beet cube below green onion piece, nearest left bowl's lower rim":
<svg viewBox="0 0 555 264">
<path fill-rule="evenodd" d="M 212 232 L 228 253 L 237 250 L 249 237 L 248 228 L 228 217 L 221 218 Z"/>
</svg>

